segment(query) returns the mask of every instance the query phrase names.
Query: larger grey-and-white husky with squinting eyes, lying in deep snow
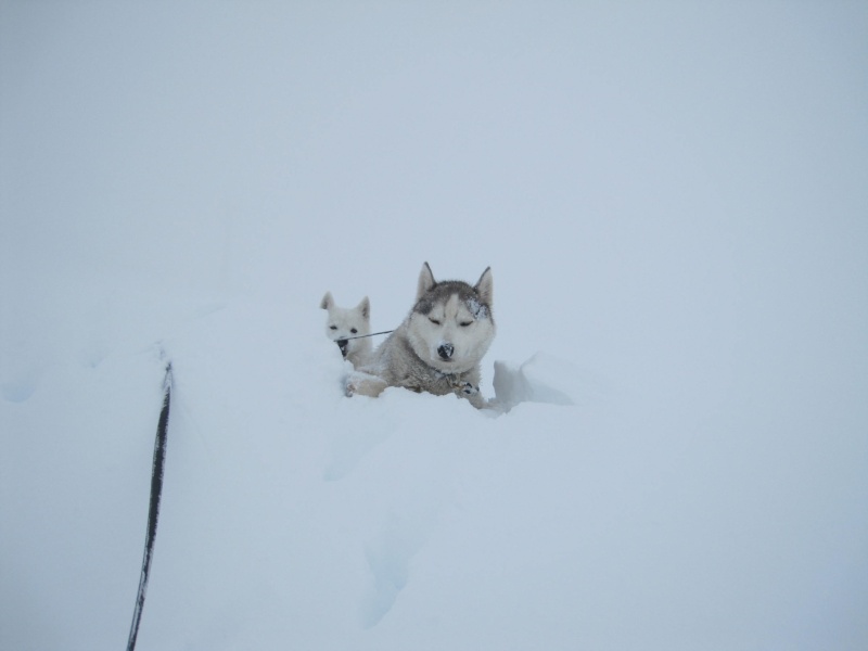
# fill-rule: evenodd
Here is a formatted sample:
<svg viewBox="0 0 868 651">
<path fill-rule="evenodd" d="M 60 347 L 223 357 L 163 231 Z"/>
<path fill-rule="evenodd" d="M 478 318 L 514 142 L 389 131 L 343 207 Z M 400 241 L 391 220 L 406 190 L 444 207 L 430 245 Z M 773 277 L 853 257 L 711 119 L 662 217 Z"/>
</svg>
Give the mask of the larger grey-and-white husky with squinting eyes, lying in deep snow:
<svg viewBox="0 0 868 651">
<path fill-rule="evenodd" d="M 480 362 L 495 337 L 492 268 L 470 286 L 437 282 L 427 263 L 419 275 L 416 305 L 404 322 L 347 378 L 347 395 L 379 396 L 386 386 L 434 395 L 454 393 L 477 409 Z"/>
</svg>

